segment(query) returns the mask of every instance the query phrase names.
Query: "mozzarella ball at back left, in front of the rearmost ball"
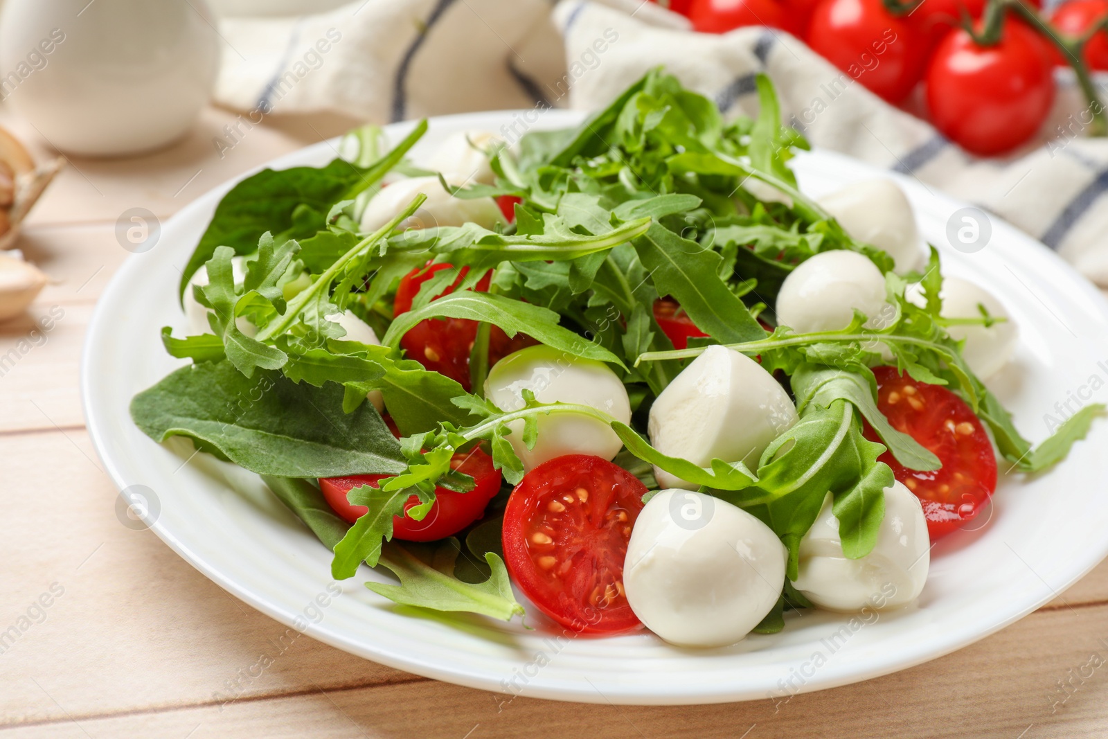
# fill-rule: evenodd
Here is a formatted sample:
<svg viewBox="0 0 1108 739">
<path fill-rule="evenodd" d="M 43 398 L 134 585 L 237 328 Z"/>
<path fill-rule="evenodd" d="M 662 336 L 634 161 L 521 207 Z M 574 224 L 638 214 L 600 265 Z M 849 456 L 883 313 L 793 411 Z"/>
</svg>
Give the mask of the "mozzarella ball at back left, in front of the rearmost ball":
<svg viewBox="0 0 1108 739">
<path fill-rule="evenodd" d="M 427 201 L 398 228 L 435 228 L 475 223 L 491 229 L 504 222 L 500 206 L 491 197 L 465 201 L 448 193 L 438 177 L 410 177 L 394 182 L 373 196 L 361 215 L 362 230 L 375 232 L 389 223 L 419 193 L 427 195 Z"/>
</svg>

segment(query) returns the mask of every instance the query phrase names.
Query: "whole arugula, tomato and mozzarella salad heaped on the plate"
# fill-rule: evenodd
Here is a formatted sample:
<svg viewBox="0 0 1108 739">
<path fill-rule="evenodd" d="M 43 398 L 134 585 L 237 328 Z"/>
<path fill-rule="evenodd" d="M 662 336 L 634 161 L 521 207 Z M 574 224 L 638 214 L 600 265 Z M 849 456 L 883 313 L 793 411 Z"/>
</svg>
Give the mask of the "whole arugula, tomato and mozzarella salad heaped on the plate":
<svg viewBox="0 0 1108 739">
<path fill-rule="evenodd" d="M 912 603 L 937 538 L 1037 447 L 983 380 L 1017 327 L 944 278 L 890 181 L 814 199 L 804 140 L 654 70 L 581 126 L 367 126 L 219 203 L 181 280 L 191 360 L 131 406 L 263 476 L 398 604 L 681 646 L 791 608 Z M 514 586 L 514 589 L 513 589 Z"/>
</svg>

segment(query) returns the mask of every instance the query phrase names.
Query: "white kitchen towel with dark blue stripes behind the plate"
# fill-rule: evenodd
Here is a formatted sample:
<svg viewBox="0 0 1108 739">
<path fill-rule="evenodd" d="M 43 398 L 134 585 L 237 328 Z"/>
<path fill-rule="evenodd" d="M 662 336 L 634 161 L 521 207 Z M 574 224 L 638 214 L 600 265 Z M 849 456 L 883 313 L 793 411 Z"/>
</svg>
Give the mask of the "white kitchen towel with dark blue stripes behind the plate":
<svg viewBox="0 0 1108 739">
<path fill-rule="evenodd" d="M 299 18 L 225 19 L 219 30 L 216 97 L 255 119 L 591 110 L 658 64 L 725 113 L 751 113 L 755 75 L 765 72 L 784 119 L 813 146 L 975 203 L 1108 287 L 1108 140 L 1080 136 L 1084 103 L 1065 75 L 1036 142 L 1004 160 L 977 160 L 787 33 L 694 33 L 643 0 L 358 0 Z"/>
</svg>

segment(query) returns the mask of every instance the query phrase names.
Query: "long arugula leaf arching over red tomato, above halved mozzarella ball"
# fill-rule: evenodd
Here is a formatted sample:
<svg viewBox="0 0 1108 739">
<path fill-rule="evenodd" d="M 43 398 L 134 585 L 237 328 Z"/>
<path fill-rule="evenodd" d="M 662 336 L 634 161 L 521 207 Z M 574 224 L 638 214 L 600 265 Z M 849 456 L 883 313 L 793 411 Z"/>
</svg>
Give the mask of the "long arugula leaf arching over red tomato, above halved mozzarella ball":
<svg viewBox="0 0 1108 739">
<path fill-rule="evenodd" d="M 499 326 L 509 338 L 516 333 L 526 333 L 571 356 L 623 366 L 619 358 L 604 347 L 558 326 L 560 317 L 553 310 L 502 295 L 473 290 L 451 292 L 422 308 L 397 316 L 381 342 L 396 347 L 400 343 L 401 337 L 420 321 L 441 317 L 484 321 Z"/>
</svg>

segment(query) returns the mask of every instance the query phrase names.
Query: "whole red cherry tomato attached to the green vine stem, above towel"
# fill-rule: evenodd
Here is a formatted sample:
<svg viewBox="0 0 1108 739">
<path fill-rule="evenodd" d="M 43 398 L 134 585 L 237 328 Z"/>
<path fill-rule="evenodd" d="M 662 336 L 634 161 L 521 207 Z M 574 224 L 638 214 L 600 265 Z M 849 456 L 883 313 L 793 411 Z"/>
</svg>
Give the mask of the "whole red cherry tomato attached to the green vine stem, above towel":
<svg viewBox="0 0 1108 739">
<path fill-rule="evenodd" d="M 1030 138 L 1054 102 L 1049 49 L 1025 23 L 1004 21 L 1001 42 L 979 47 L 952 31 L 927 68 L 931 122 L 974 154 L 1007 152 Z"/>
</svg>

